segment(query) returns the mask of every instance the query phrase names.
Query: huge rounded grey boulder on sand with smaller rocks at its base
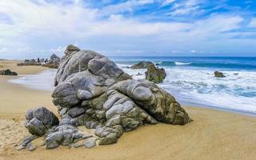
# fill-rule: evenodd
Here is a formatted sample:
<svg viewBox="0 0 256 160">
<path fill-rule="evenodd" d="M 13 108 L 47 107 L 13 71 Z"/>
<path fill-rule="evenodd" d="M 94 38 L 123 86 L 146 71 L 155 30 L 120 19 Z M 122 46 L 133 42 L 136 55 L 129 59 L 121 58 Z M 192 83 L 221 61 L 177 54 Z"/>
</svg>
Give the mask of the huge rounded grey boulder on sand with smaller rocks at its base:
<svg viewBox="0 0 256 160">
<path fill-rule="evenodd" d="M 166 90 L 147 80 L 132 79 L 102 54 L 74 46 L 68 46 L 65 54 L 52 93 L 61 117 L 58 126 L 49 123 L 54 116 L 48 112 L 34 114 L 34 110 L 29 110 L 26 115 L 30 133 L 40 136 L 45 133 L 46 149 L 60 145 L 79 147 L 81 139 L 92 136 L 99 141 L 97 144 L 109 145 L 118 142 L 123 132 L 143 124 L 185 125 L 192 121 Z M 80 133 L 77 126 L 95 129 L 95 135 Z M 95 144 L 94 140 L 87 140 L 84 145 Z"/>
</svg>

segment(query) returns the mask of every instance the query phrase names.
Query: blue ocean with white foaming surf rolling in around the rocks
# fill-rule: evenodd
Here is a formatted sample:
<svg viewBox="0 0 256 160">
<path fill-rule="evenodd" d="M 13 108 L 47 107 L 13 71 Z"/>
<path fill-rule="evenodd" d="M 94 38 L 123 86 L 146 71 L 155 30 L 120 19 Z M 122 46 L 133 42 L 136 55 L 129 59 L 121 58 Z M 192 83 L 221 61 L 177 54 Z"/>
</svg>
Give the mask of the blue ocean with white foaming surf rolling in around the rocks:
<svg viewBox="0 0 256 160">
<path fill-rule="evenodd" d="M 256 114 L 256 58 L 226 57 L 110 57 L 135 79 L 145 78 L 146 70 L 130 70 L 126 66 L 140 61 L 151 61 L 166 70 L 166 79 L 159 84 L 182 105 L 210 106 L 224 110 Z M 226 78 L 215 78 L 214 71 L 222 71 Z M 136 75 L 141 73 L 142 75 Z M 42 85 L 53 90 L 54 70 L 38 74 L 38 78 L 25 76 L 19 83 Z M 42 78 L 47 78 L 42 81 Z M 32 80 L 33 79 L 33 80 Z M 13 80 L 12 82 L 15 82 Z M 30 87 L 33 85 L 29 85 Z M 36 85 L 34 87 L 37 87 Z"/>
</svg>

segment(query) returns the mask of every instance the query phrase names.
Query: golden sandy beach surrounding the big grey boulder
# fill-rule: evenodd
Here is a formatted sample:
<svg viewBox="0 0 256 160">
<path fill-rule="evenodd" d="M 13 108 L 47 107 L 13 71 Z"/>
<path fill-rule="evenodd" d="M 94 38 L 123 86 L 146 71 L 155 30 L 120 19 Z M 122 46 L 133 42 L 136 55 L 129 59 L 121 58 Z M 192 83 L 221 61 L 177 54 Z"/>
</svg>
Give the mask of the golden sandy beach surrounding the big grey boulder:
<svg viewBox="0 0 256 160">
<path fill-rule="evenodd" d="M 18 74 L 46 70 L 15 63 L 7 64 Z M 123 134 L 114 145 L 17 151 L 14 144 L 29 135 L 23 126 L 26 110 L 34 106 L 47 106 L 55 113 L 57 110 L 50 92 L 6 82 L 10 78 L 14 77 L 0 76 L 0 159 L 256 159 L 255 117 L 191 106 L 185 109 L 194 122 L 186 126 L 142 126 Z"/>
</svg>

